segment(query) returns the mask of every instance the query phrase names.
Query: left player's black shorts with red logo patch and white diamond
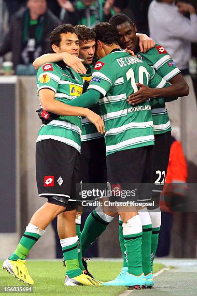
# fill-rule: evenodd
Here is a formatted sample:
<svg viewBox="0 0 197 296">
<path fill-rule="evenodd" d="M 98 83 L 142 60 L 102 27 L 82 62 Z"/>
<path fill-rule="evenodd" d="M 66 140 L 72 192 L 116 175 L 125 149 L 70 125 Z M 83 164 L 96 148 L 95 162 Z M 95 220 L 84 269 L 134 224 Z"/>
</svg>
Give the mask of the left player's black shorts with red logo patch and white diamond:
<svg viewBox="0 0 197 296">
<path fill-rule="evenodd" d="M 49 202 L 77 208 L 76 183 L 80 183 L 80 153 L 73 147 L 47 139 L 36 143 L 36 180 L 39 196 Z M 60 202 L 51 200 L 57 196 Z"/>
</svg>

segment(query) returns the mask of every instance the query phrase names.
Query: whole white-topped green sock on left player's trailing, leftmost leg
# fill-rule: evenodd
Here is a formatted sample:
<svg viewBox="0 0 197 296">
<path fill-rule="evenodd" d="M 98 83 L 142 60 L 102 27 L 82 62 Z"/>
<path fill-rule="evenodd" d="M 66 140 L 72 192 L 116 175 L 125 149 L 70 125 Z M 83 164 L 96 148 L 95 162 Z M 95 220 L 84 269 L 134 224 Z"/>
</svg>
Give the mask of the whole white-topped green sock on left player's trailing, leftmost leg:
<svg viewBox="0 0 197 296">
<path fill-rule="evenodd" d="M 25 260 L 31 248 L 44 233 L 44 230 L 36 227 L 31 223 L 28 223 L 26 231 L 21 237 L 16 250 L 8 259 L 13 261 L 17 261 L 18 259 Z"/>
</svg>

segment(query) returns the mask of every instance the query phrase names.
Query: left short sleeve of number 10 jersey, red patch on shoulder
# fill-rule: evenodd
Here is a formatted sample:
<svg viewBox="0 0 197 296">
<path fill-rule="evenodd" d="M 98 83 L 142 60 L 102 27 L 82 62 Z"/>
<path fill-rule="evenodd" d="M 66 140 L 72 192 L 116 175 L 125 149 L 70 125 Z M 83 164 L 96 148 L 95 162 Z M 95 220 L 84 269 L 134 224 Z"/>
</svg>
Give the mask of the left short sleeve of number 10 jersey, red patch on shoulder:
<svg viewBox="0 0 197 296">
<path fill-rule="evenodd" d="M 88 89 L 98 90 L 103 96 L 105 96 L 112 88 L 114 81 L 114 71 L 110 63 L 108 62 L 105 64 L 99 60 L 94 66 L 92 79 L 90 80 Z"/>
</svg>

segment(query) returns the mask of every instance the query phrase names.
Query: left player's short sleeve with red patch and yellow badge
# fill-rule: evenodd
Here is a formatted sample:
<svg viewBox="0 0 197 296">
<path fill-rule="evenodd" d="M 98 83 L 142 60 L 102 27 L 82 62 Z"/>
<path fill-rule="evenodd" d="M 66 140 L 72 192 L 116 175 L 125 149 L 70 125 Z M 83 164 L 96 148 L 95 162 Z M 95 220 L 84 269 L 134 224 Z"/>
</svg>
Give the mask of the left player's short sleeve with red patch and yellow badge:
<svg viewBox="0 0 197 296">
<path fill-rule="evenodd" d="M 58 88 L 60 77 L 54 64 L 45 64 L 38 69 L 37 73 L 37 90 L 51 89 L 55 93 Z"/>
</svg>

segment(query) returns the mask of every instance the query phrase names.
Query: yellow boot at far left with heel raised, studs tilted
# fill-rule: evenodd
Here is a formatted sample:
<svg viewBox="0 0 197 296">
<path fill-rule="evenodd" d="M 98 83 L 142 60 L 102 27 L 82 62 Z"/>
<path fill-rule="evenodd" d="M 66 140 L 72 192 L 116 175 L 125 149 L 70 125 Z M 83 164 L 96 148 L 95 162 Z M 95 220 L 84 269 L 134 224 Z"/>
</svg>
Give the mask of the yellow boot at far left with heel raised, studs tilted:
<svg viewBox="0 0 197 296">
<path fill-rule="evenodd" d="M 3 262 L 2 269 L 7 270 L 14 275 L 18 280 L 23 281 L 29 285 L 33 285 L 34 281 L 31 279 L 25 260 L 18 259 L 17 261 L 6 259 Z"/>
</svg>

